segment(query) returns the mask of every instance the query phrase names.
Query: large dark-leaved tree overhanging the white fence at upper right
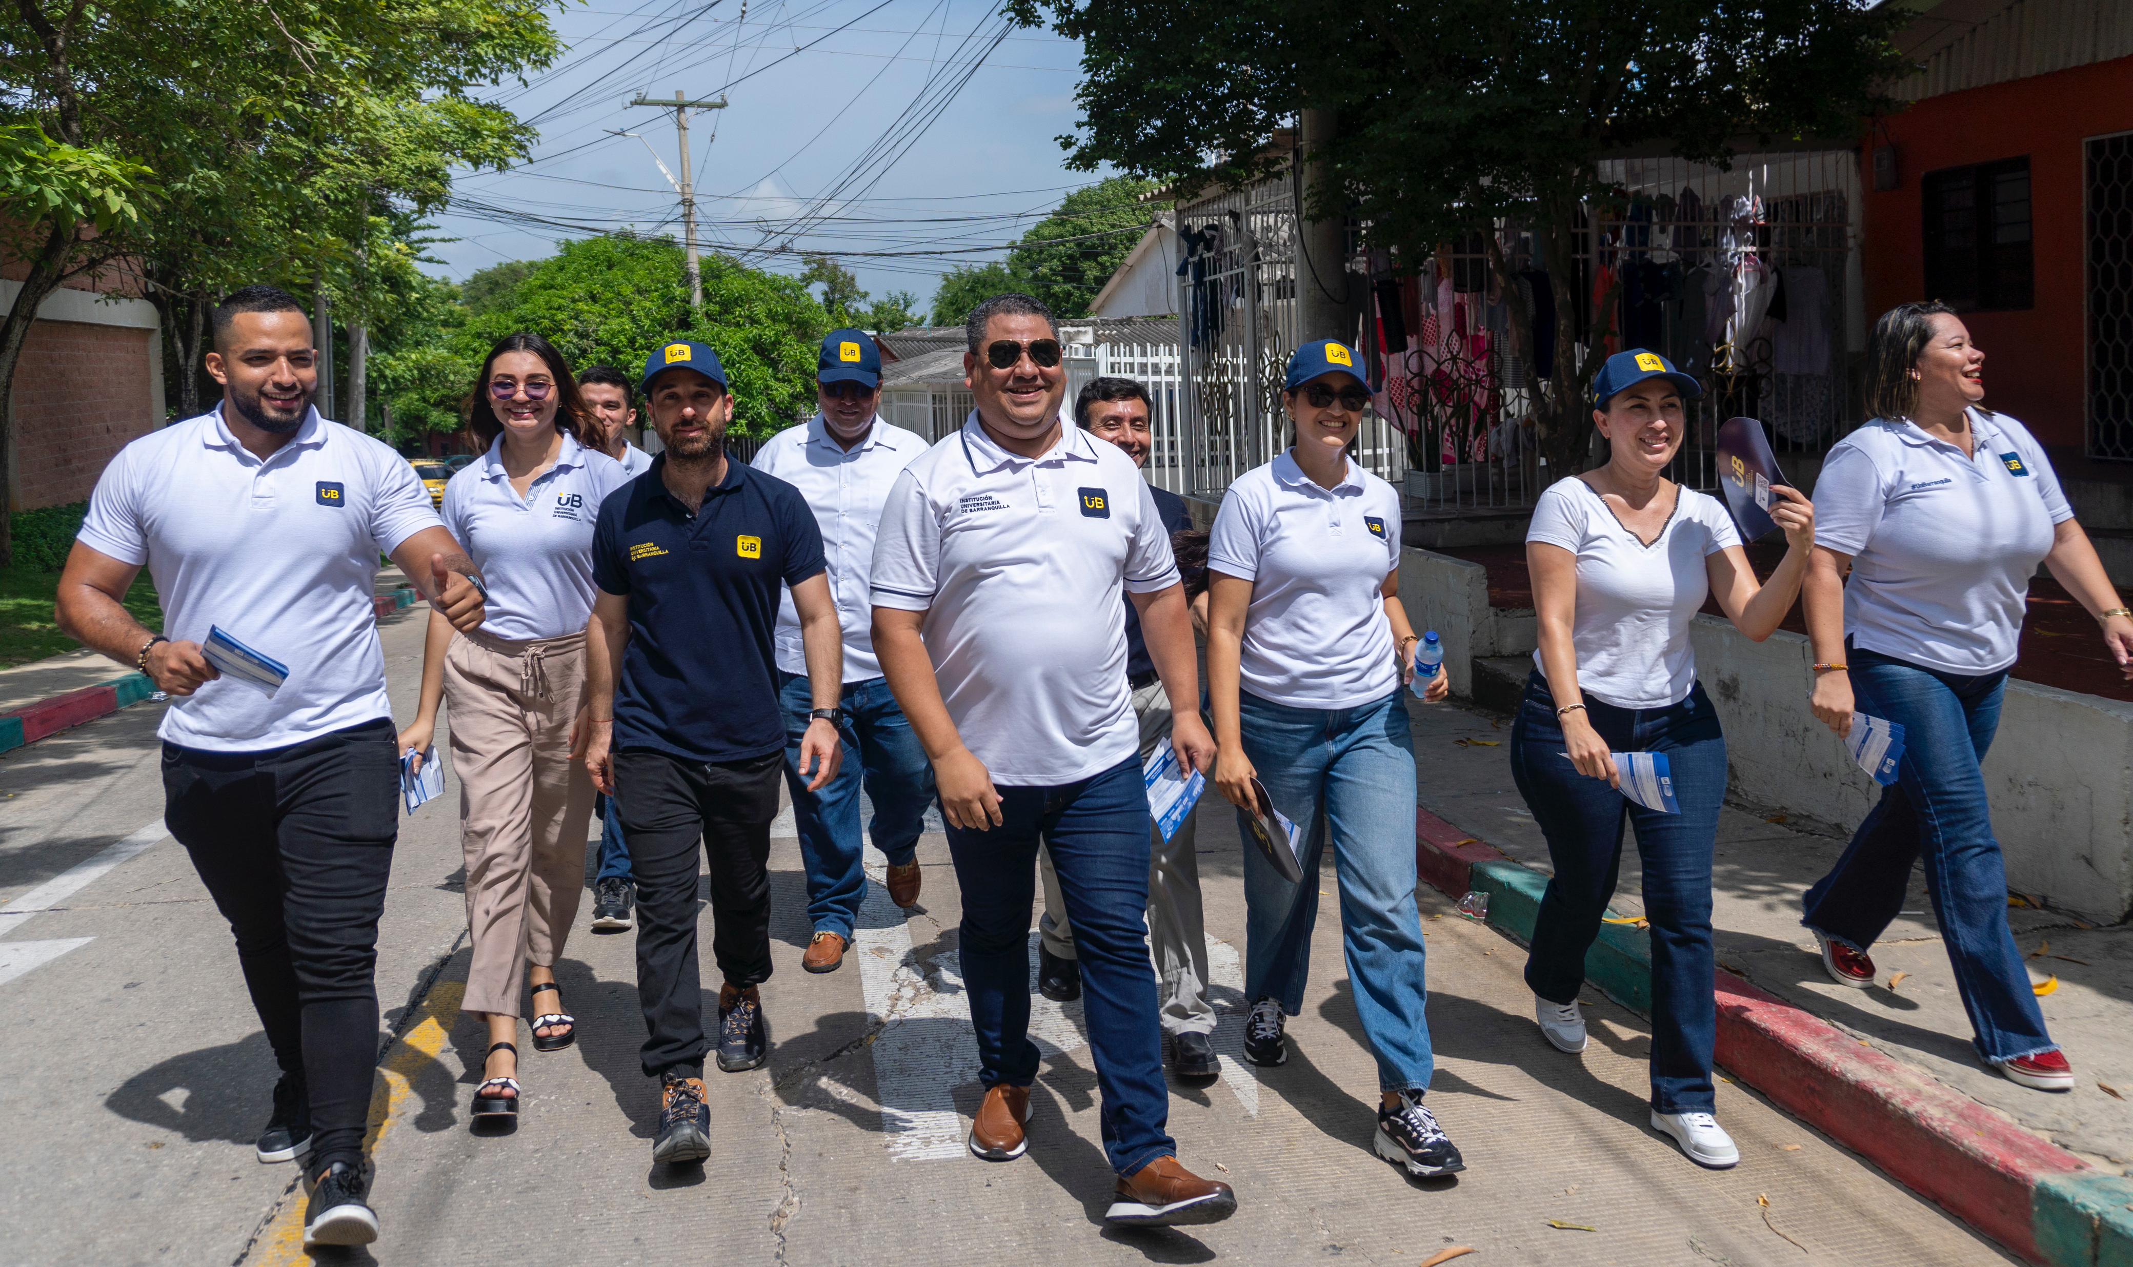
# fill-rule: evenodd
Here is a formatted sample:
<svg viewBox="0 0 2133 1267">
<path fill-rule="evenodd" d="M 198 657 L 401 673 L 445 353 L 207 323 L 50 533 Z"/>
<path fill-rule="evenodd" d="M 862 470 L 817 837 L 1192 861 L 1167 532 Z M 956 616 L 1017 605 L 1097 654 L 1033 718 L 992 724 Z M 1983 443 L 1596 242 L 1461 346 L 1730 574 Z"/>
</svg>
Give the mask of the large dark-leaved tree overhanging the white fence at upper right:
<svg viewBox="0 0 2133 1267">
<path fill-rule="evenodd" d="M 1013 0 L 1081 41 L 1081 169 L 1244 183 L 1301 111 L 1331 111 L 1310 162 L 1314 220 L 1354 215 L 1401 260 L 1512 222 L 1551 260 L 1572 258 L 1585 205 L 1617 196 L 1608 154 L 1670 151 L 1723 164 L 1741 139 L 1841 139 L 1892 109 L 1903 4 L 1869 0 Z M 1209 160 L 1212 158 L 1212 160 Z M 1551 269 L 1557 346 L 1576 343 L 1572 273 Z M 1517 296 L 1510 286 L 1508 294 Z M 1517 301 L 1514 301 L 1517 303 Z M 1523 305 L 1521 305 L 1523 307 Z M 1531 316 L 1512 339 L 1531 350 Z M 1557 358 L 1566 365 L 1566 358 Z M 1598 356 L 1538 401 L 1557 471 L 1583 465 Z M 1559 463 L 1559 465 L 1557 465 Z"/>
</svg>

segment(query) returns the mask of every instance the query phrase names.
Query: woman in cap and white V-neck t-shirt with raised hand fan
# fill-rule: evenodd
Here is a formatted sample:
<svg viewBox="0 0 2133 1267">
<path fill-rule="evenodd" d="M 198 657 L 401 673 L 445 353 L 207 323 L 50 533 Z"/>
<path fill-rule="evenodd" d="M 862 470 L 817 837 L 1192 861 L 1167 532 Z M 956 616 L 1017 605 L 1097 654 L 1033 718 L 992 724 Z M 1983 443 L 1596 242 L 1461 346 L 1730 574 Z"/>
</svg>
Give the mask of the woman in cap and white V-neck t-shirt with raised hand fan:
<svg viewBox="0 0 2133 1267">
<path fill-rule="evenodd" d="M 1615 894 L 1627 817 L 1651 921 L 1651 1126 L 1721 1169 L 1741 1160 L 1713 1116 L 1711 1084 L 1711 853 L 1726 736 L 1696 685 L 1689 621 L 1717 595 L 1734 627 L 1768 638 L 1807 576 L 1815 508 L 1770 488 L 1787 550 L 1758 584 L 1726 508 L 1664 476 L 1687 431 L 1683 401 L 1700 395 L 1653 352 L 1619 352 L 1600 369 L 1593 424 L 1608 461 L 1551 484 L 1525 533 L 1540 648 L 1510 727 L 1510 772 L 1555 864 L 1525 962 L 1542 1037 L 1585 1049 L 1585 951 Z M 1621 785 L 1632 772 L 1613 753 L 1666 757 L 1679 813 L 1630 800 Z"/>
</svg>

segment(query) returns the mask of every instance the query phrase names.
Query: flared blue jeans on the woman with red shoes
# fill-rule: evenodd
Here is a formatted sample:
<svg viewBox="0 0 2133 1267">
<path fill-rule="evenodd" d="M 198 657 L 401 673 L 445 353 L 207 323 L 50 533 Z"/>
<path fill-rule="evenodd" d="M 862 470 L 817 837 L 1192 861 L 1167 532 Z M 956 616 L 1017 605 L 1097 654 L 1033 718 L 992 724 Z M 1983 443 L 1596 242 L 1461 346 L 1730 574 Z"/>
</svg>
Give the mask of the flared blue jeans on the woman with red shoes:
<svg viewBox="0 0 2133 1267">
<path fill-rule="evenodd" d="M 2007 674 L 1943 674 L 1860 648 L 1845 657 L 1858 710 L 1903 725 L 1903 761 L 1845 855 L 1807 889 L 1800 924 L 1864 951 L 1903 911 L 1911 864 L 1924 855 L 1977 1052 L 1986 1060 L 2056 1052 L 2007 928 L 2007 864 L 1979 770 Z"/>
</svg>

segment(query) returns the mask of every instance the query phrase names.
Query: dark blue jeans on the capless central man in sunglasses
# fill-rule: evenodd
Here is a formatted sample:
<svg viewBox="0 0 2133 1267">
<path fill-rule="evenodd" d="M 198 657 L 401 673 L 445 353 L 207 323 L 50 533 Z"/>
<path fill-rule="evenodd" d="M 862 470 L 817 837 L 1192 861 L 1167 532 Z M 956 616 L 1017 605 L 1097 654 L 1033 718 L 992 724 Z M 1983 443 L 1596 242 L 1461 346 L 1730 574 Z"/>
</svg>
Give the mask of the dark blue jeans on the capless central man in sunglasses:
<svg viewBox="0 0 2133 1267">
<path fill-rule="evenodd" d="M 947 849 L 962 885 L 962 985 L 977 1030 L 979 1081 L 1037 1081 L 1030 1041 L 1030 900 L 1037 845 L 1052 853 L 1066 924 L 1081 958 L 1081 1015 L 1103 1090 L 1103 1152 L 1130 1175 L 1175 1156 L 1165 1130 L 1156 973 L 1148 962 L 1148 785 L 1133 755 L 1062 787 L 998 787 L 1000 825 L 949 823 Z"/>
</svg>

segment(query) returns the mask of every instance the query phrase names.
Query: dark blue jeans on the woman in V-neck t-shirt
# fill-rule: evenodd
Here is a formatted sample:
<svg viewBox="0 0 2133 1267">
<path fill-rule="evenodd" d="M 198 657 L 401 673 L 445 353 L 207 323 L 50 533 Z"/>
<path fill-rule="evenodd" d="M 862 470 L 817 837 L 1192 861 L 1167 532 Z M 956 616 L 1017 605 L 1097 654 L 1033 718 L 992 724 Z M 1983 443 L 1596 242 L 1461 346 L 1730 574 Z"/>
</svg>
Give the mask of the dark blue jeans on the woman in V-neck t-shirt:
<svg viewBox="0 0 2133 1267">
<path fill-rule="evenodd" d="M 1585 985 L 1585 951 L 1621 875 L 1621 828 L 1636 828 L 1651 921 L 1651 1107 L 1709 1113 L 1711 1052 L 1719 1037 L 1711 947 L 1711 851 L 1726 804 L 1726 736 L 1702 685 L 1670 708 L 1615 708 L 1591 695 L 1585 717 L 1615 753 L 1666 753 L 1679 815 L 1632 804 L 1563 755 L 1555 695 L 1538 672 L 1510 725 L 1510 776 L 1549 840 L 1555 877 L 1540 896 L 1525 983 L 1549 1003 Z"/>
</svg>

